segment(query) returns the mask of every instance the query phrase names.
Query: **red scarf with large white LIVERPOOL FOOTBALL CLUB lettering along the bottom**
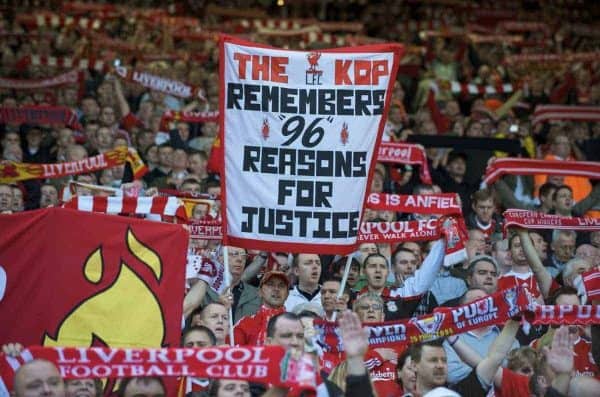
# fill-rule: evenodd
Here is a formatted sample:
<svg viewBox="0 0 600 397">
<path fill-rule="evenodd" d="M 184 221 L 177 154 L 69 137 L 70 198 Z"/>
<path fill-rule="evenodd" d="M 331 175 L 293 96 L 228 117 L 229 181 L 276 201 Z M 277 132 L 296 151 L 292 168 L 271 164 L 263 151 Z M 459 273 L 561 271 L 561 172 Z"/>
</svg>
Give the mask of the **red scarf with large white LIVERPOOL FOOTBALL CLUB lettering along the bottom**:
<svg viewBox="0 0 600 397">
<path fill-rule="evenodd" d="M 54 363 L 64 379 L 192 376 L 244 379 L 308 391 L 314 391 L 316 387 L 317 369 L 312 357 L 286 352 L 281 346 L 219 346 L 201 349 L 34 346 L 24 353 L 30 359 L 44 359 Z M 6 360 L 4 354 L 0 354 L 0 360 Z M 12 373 L 2 375 L 5 378 L 14 376 Z"/>
</svg>

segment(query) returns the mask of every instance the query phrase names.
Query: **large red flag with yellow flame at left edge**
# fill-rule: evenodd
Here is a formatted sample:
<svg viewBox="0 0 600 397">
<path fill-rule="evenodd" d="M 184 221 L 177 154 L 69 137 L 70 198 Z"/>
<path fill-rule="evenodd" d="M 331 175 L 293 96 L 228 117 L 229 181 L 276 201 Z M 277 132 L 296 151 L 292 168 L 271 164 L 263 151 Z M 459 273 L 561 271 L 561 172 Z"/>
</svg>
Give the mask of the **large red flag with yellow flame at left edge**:
<svg viewBox="0 0 600 397">
<path fill-rule="evenodd" d="M 178 346 L 182 226 L 48 208 L 0 230 L 0 344 Z"/>
</svg>

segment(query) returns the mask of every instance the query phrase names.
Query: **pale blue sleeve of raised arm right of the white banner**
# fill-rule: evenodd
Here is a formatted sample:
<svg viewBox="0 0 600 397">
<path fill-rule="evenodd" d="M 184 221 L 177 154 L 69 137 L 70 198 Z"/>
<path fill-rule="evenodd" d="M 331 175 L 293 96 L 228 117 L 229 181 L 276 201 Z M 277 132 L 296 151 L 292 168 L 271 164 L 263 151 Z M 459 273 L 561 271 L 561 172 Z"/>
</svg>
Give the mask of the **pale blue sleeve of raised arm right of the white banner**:
<svg viewBox="0 0 600 397">
<path fill-rule="evenodd" d="M 440 271 L 440 267 L 444 262 L 445 252 L 445 240 L 440 239 L 436 241 L 421 267 L 415 272 L 415 275 L 406 279 L 402 287 L 392 290 L 391 296 L 394 298 L 398 296 L 405 298 L 426 293 L 431 288 Z"/>
</svg>

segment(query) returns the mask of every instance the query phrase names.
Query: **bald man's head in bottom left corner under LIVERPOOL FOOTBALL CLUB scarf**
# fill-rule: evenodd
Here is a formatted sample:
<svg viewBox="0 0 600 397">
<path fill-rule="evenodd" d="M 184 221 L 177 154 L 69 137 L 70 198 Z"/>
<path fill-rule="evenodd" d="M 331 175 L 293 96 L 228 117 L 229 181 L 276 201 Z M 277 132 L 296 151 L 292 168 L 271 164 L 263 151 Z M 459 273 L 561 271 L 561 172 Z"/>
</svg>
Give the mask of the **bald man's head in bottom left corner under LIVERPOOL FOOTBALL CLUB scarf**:
<svg viewBox="0 0 600 397">
<path fill-rule="evenodd" d="M 65 396 L 65 385 L 56 367 L 47 361 L 34 361 L 15 377 L 18 397 Z"/>
</svg>

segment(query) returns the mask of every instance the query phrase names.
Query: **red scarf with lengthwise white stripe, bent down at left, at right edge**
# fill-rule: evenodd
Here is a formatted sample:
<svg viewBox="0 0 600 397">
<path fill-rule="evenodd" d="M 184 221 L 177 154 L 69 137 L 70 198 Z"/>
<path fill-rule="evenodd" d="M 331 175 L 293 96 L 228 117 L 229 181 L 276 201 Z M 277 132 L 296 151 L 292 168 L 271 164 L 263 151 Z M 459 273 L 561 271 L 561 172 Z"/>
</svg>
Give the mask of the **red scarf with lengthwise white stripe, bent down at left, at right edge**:
<svg viewBox="0 0 600 397">
<path fill-rule="evenodd" d="M 534 160 L 514 157 L 496 158 L 488 164 L 481 185 L 483 188 L 507 174 L 548 174 L 600 179 L 600 163 L 593 161 L 569 161 L 568 167 L 565 164 L 561 160 Z"/>
</svg>

